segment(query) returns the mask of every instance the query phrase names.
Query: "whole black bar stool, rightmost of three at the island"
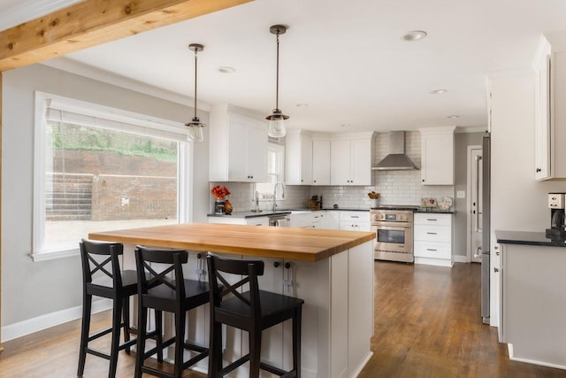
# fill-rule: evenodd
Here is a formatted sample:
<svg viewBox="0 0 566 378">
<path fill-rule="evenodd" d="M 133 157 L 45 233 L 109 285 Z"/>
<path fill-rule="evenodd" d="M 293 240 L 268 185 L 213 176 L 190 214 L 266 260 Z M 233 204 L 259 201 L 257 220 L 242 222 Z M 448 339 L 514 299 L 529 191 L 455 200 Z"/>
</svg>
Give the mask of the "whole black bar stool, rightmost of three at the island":
<svg viewBox="0 0 566 378">
<path fill-rule="evenodd" d="M 260 290 L 257 276 L 264 274 L 264 261 L 235 260 L 209 253 L 207 263 L 210 282 L 209 377 L 223 377 L 249 361 L 250 378 L 259 377 L 260 368 L 286 378 L 300 378 L 301 312 L 304 301 Z M 228 274 L 245 277 L 230 284 Z M 249 291 L 241 293 L 241 287 L 246 283 L 249 283 Z M 229 294 L 231 296 L 225 298 Z M 286 372 L 261 362 L 260 358 L 262 331 L 289 319 L 293 320 L 293 369 Z M 240 328 L 249 334 L 249 353 L 226 367 L 222 361 L 222 324 Z"/>
</svg>

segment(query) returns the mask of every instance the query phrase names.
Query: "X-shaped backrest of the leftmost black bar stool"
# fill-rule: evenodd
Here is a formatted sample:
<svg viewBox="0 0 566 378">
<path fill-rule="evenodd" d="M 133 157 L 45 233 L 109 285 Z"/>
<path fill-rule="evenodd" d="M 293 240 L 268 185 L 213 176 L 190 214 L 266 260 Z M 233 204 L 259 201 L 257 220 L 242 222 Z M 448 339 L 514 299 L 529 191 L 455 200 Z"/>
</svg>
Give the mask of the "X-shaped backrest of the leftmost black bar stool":
<svg viewBox="0 0 566 378">
<path fill-rule="evenodd" d="M 93 275 L 98 273 L 110 278 L 114 288 L 122 287 L 118 257 L 124 253 L 124 244 L 95 243 L 82 239 L 79 246 L 84 285 L 92 283 Z"/>
</svg>

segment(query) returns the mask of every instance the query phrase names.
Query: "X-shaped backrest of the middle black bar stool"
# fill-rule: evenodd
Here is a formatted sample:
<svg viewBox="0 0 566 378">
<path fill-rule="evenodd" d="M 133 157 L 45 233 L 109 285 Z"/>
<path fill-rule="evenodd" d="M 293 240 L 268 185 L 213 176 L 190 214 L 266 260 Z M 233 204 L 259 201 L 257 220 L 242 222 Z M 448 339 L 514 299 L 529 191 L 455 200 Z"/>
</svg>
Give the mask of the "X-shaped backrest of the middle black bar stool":
<svg viewBox="0 0 566 378">
<path fill-rule="evenodd" d="M 174 292 L 177 300 L 185 298 L 183 264 L 188 261 L 188 252 L 184 250 L 157 250 L 135 247 L 135 266 L 138 275 L 138 295 L 148 294 L 149 289 L 164 285 Z M 160 264 L 158 270 L 151 264 Z M 173 280 L 167 275 L 173 275 Z"/>
</svg>

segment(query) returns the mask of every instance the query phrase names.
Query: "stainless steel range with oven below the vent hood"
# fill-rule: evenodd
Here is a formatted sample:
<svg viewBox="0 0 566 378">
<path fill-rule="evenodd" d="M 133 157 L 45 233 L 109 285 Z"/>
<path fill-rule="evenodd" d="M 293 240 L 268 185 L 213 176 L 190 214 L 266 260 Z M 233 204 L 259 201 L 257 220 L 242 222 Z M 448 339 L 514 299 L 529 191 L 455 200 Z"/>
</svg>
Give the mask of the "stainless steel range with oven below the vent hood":
<svg viewBox="0 0 566 378">
<path fill-rule="evenodd" d="M 375 232 L 374 258 L 412 263 L 413 212 L 416 206 L 382 206 L 370 210 Z"/>
</svg>

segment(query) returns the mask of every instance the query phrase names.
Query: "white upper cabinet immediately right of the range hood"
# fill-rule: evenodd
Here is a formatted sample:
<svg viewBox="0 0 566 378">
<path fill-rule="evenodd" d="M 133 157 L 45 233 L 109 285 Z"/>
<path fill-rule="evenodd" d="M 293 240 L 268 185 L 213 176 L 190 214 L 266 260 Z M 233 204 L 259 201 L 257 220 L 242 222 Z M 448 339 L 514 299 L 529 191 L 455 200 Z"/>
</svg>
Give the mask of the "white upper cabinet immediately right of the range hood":
<svg viewBox="0 0 566 378">
<path fill-rule="evenodd" d="M 454 185 L 455 127 L 419 128 L 423 185 Z"/>
</svg>

